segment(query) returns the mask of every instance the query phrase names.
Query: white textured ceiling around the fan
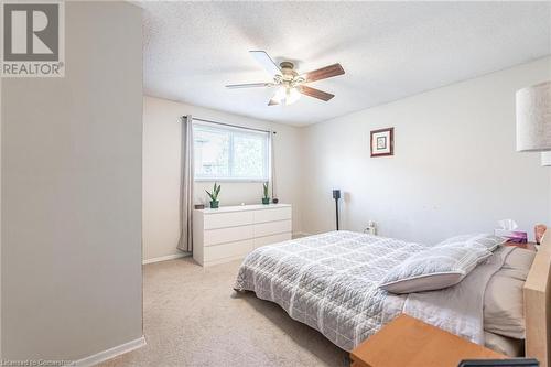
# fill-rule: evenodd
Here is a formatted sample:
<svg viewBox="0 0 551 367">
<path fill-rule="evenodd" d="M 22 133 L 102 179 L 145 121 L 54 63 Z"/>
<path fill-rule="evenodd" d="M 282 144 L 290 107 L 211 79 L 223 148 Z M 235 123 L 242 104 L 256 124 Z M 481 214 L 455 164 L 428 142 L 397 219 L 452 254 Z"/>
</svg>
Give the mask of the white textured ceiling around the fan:
<svg viewBox="0 0 551 367">
<path fill-rule="evenodd" d="M 307 125 L 551 53 L 551 2 L 143 2 L 145 94 Z M 270 82 L 248 54 L 300 72 L 341 63 L 310 84 L 335 94 L 268 107 Z"/>
</svg>

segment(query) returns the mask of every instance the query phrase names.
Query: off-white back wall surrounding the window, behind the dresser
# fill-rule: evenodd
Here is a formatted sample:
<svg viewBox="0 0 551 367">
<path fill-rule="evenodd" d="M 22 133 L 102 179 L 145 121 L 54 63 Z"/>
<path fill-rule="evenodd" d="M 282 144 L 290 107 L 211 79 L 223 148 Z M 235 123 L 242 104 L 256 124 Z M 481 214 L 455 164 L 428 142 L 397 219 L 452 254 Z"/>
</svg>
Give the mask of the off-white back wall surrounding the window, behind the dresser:
<svg viewBox="0 0 551 367">
<path fill-rule="evenodd" d="M 147 96 L 143 98 L 143 259 L 181 253 L 176 250 L 181 174 L 179 121 L 184 115 L 277 131 L 276 194 L 281 203 L 293 204 L 293 231 L 300 233 L 300 129 Z M 206 202 L 205 188 L 212 186 L 212 182 L 197 182 L 195 203 Z M 220 205 L 256 204 L 261 196 L 261 183 L 222 182 Z"/>
</svg>

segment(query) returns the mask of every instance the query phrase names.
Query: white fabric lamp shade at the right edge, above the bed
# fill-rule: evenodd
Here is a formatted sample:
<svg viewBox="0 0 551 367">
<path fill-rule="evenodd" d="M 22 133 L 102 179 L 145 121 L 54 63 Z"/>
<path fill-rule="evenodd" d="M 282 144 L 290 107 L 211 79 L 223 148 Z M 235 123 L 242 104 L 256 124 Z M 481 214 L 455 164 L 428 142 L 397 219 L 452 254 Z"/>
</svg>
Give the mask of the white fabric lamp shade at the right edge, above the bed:
<svg viewBox="0 0 551 367">
<path fill-rule="evenodd" d="M 551 82 L 517 91 L 517 151 L 551 150 Z"/>
</svg>

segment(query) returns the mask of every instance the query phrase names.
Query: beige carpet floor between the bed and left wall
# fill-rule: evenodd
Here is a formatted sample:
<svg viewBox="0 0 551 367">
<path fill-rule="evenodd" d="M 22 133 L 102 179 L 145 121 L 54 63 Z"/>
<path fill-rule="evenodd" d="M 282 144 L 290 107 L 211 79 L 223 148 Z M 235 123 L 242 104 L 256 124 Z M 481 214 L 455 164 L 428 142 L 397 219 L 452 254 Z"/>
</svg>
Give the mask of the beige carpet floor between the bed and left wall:
<svg viewBox="0 0 551 367">
<path fill-rule="evenodd" d="M 231 289 L 240 261 L 143 267 L 148 345 L 101 366 L 348 366 L 347 353 L 277 304 Z"/>
</svg>

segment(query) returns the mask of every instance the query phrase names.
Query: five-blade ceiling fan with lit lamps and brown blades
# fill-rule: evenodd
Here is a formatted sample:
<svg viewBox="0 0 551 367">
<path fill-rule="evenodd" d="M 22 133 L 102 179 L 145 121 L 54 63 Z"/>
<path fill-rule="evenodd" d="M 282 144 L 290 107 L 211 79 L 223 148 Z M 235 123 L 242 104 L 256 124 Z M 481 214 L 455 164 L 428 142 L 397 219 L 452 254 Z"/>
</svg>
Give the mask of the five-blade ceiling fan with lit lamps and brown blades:
<svg viewBox="0 0 551 367">
<path fill-rule="evenodd" d="M 267 83 L 249 83 L 249 84 L 233 84 L 227 85 L 226 88 L 256 88 L 256 87 L 267 87 L 273 88 L 278 87 L 278 90 L 273 97 L 268 102 L 268 106 L 276 105 L 291 105 L 294 104 L 302 95 L 317 98 L 324 101 L 328 101 L 331 98 L 335 97 L 331 93 L 326 93 L 316 88 L 309 87 L 304 84 L 327 79 L 337 75 L 343 75 L 345 72 L 341 64 L 333 64 L 318 68 L 313 72 L 305 74 L 299 74 L 294 69 L 294 64 L 291 62 L 282 62 L 276 64 L 273 60 L 264 51 L 249 51 L 249 53 L 259 62 L 264 69 L 273 75 L 273 82 Z"/>
</svg>

